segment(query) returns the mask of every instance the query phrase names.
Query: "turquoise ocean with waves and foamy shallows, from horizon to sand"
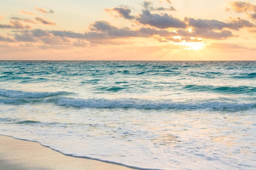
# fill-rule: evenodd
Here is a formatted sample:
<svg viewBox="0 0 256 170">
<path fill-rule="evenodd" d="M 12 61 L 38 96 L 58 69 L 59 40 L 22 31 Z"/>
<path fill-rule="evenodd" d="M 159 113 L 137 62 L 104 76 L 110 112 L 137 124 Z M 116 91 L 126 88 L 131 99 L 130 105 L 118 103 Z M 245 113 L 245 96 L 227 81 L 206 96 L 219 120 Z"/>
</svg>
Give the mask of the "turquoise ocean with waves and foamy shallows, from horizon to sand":
<svg viewBox="0 0 256 170">
<path fill-rule="evenodd" d="M 0 135 L 143 170 L 255 170 L 256 61 L 0 61 Z"/>
</svg>

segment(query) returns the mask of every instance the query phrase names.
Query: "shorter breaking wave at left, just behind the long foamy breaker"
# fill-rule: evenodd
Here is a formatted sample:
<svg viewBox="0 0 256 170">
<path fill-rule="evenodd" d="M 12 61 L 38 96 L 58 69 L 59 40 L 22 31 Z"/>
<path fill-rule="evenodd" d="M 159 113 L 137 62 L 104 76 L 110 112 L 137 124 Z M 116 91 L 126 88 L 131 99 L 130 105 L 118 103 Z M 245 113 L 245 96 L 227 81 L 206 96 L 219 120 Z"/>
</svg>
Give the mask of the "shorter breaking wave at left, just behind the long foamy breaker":
<svg viewBox="0 0 256 170">
<path fill-rule="evenodd" d="M 14 90 L 6 90 L 0 89 L 0 96 L 9 97 L 9 98 L 43 98 L 50 97 L 56 95 L 67 95 L 68 92 L 65 91 L 57 91 L 57 92 L 30 92 L 30 91 L 14 91 Z M 6 99 L 9 101 L 9 99 Z M 20 100 L 20 99 L 18 99 Z M 11 101 L 10 101 L 11 102 Z"/>
</svg>

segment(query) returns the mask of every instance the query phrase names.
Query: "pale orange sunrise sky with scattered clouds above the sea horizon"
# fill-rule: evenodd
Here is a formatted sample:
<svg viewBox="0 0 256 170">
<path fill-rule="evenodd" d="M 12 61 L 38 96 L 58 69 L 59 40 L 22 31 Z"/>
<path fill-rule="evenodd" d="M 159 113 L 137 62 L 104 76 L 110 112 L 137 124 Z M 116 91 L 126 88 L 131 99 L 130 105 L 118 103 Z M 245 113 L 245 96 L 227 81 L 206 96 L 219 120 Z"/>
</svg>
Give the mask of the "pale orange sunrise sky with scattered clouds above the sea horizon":
<svg viewBox="0 0 256 170">
<path fill-rule="evenodd" d="M 1 0 L 0 60 L 256 60 L 256 0 Z"/>
</svg>

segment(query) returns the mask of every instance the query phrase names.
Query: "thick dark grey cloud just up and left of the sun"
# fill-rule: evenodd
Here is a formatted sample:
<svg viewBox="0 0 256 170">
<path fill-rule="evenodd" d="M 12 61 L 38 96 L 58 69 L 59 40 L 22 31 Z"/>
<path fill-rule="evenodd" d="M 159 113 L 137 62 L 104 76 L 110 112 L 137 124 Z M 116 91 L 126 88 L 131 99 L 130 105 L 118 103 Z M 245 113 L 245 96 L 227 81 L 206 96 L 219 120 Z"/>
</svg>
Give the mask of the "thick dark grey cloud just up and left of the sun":
<svg viewBox="0 0 256 170">
<path fill-rule="evenodd" d="M 148 10 L 143 10 L 142 14 L 139 14 L 137 17 L 137 21 L 141 24 L 155 26 L 160 29 L 186 28 L 185 22 L 174 18 L 172 15 L 168 15 L 167 13 L 164 15 L 151 14 Z"/>
</svg>

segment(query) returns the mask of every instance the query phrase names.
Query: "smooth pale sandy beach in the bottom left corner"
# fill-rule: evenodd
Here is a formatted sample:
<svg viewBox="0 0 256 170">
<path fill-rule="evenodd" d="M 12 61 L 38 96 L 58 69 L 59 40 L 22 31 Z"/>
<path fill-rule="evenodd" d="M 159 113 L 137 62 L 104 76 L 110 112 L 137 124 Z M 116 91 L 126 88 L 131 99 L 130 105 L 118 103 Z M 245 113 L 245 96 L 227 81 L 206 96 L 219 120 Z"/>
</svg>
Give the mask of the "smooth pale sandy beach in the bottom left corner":
<svg viewBox="0 0 256 170">
<path fill-rule="evenodd" d="M 135 170 L 63 155 L 37 142 L 0 135 L 0 170 Z"/>
</svg>

